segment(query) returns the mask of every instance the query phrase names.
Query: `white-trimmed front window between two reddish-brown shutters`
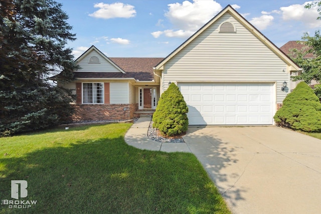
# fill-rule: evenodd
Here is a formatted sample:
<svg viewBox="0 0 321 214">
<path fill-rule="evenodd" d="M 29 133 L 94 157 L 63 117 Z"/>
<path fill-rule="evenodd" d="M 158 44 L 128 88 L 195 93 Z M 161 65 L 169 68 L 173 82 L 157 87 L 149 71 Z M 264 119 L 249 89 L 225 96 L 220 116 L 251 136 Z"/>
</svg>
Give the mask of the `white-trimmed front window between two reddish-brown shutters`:
<svg viewBox="0 0 321 214">
<path fill-rule="evenodd" d="M 82 102 L 84 104 L 104 103 L 103 83 L 83 83 Z"/>
</svg>

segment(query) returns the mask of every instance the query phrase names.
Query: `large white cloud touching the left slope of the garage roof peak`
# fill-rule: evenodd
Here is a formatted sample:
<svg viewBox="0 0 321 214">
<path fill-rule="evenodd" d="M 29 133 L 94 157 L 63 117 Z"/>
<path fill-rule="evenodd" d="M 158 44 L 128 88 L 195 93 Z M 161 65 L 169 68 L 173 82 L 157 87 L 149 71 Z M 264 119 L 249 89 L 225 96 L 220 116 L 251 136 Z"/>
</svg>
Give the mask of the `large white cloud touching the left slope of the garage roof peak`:
<svg viewBox="0 0 321 214">
<path fill-rule="evenodd" d="M 184 1 L 182 4 L 169 4 L 165 16 L 175 28 L 183 31 L 197 31 L 222 10 L 222 6 L 211 0 Z"/>
</svg>

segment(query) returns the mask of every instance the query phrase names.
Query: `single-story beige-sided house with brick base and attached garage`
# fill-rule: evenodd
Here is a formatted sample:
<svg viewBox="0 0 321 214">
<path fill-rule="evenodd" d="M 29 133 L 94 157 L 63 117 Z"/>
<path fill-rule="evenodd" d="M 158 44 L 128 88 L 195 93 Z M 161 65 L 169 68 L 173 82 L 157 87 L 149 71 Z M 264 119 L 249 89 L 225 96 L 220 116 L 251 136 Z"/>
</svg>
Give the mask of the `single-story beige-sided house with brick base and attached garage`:
<svg viewBox="0 0 321 214">
<path fill-rule="evenodd" d="M 166 58 L 108 58 L 92 46 L 76 60 L 74 119 L 130 119 L 156 108 L 176 83 L 190 125 L 267 125 L 299 67 L 227 6 Z"/>
</svg>

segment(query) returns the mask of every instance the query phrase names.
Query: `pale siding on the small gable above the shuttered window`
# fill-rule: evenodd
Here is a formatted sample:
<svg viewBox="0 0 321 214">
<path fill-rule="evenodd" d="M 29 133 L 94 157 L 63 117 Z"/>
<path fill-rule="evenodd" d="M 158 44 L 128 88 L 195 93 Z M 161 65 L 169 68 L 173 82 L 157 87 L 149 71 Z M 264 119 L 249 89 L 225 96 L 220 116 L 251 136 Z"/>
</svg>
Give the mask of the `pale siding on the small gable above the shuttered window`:
<svg viewBox="0 0 321 214">
<path fill-rule="evenodd" d="M 89 59 L 92 56 L 98 57 L 100 63 L 89 64 Z M 84 59 L 82 59 L 78 65 L 81 67 L 81 69 L 77 72 L 120 72 L 95 50 L 91 51 L 86 57 L 84 57 Z"/>
</svg>

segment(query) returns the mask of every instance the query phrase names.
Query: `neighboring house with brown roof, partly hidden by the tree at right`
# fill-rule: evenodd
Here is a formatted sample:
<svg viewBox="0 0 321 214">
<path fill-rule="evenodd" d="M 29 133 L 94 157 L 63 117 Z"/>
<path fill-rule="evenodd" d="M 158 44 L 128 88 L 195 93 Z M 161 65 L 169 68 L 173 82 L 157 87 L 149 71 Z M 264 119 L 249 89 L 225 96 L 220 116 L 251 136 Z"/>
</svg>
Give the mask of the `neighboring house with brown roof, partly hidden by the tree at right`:
<svg viewBox="0 0 321 214">
<path fill-rule="evenodd" d="M 281 48 L 280 50 L 283 51 L 286 55 L 290 56 L 291 53 L 291 49 L 297 49 L 298 51 L 306 51 L 308 50 L 308 47 L 306 47 L 305 45 L 303 45 L 302 43 L 299 43 L 298 41 L 289 41 L 287 43 L 285 43 Z M 292 58 L 295 58 L 296 56 L 293 55 L 291 56 Z M 309 53 L 309 54 L 306 54 L 303 59 L 315 59 L 315 56 L 313 56 L 312 53 Z M 301 70 L 300 71 L 296 71 L 296 72 L 291 72 L 291 76 L 297 76 L 300 74 L 300 72 L 302 72 Z M 291 90 L 293 90 L 296 85 L 301 82 L 301 80 L 298 80 L 298 81 L 291 81 L 290 82 L 290 86 L 291 86 Z M 310 83 L 310 87 L 311 88 L 314 88 L 314 85 L 315 84 L 318 84 L 315 80 L 312 80 L 311 83 Z"/>
</svg>

